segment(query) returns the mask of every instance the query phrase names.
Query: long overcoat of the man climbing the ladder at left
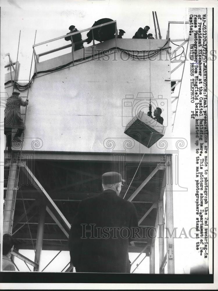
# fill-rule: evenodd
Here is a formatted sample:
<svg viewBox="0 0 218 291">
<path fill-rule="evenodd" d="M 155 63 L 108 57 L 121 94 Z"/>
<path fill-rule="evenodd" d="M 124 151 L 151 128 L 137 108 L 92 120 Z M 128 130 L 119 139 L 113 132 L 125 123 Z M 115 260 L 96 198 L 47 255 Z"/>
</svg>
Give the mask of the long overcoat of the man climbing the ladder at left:
<svg viewBox="0 0 218 291">
<path fill-rule="evenodd" d="M 5 108 L 4 126 L 8 128 L 24 128 L 20 107 L 26 105 L 28 105 L 28 101 L 23 101 L 17 95 L 9 97 Z"/>
</svg>

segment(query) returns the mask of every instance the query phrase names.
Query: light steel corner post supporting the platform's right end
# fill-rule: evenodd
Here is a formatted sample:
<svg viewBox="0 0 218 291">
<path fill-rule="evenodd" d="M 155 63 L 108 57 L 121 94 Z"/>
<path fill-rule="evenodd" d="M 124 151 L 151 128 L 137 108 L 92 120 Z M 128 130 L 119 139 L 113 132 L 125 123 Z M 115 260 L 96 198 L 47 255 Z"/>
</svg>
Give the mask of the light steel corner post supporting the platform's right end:
<svg viewBox="0 0 218 291">
<path fill-rule="evenodd" d="M 172 155 L 166 155 L 166 220 L 167 220 L 167 270 L 168 274 L 174 274 L 174 237 L 173 234 L 173 177 Z M 171 236 L 171 237 L 170 237 Z"/>
</svg>

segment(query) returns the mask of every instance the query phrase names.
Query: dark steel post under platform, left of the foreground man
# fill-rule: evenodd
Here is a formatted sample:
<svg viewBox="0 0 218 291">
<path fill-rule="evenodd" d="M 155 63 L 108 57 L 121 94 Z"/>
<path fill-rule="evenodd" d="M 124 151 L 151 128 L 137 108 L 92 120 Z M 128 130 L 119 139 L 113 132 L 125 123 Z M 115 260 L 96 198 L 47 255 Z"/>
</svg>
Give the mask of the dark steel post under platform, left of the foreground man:
<svg viewBox="0 0 218 291">
<path fill-rule="evenodd" d="M 38 224 L 38 230 L 37 230 L 36 249 L 35 249 L 35 262 L 39 265 L 39 267 L 38 268 L 34 267 L 33 271 L 39 271 L 39 268 L 40 268 L 40 256 L 42 252 L 45 213 L 46 213 L 46 200 L 43 197 L 42 202 L 41 202 L 41 207 L 40 207 L 39 224 Z"/>
</svg>

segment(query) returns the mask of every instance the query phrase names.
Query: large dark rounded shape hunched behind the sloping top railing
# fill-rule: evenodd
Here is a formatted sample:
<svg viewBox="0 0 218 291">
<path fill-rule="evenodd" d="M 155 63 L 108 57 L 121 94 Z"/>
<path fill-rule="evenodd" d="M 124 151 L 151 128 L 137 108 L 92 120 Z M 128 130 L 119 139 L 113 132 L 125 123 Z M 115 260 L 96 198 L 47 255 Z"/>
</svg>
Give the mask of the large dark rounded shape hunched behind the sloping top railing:
<svg viewBox="0 0 218 291">
<path fill-rule="evenodd" d="M 100 25 L 100 24 L 104 24 L 107 22 L 111 22 L 111 21 L 113 21 L 113 19 L 102 18 L 102 19 L 95 21 L 95 23 L 92 25 L 92 27 Z M 115 37 L 114 34 L 115 34 L 115 23 L 108 24 L 108 25 L 93 29 L 94 39 L 97 41 L 100 41 L 100 42 L 114 38 Z M 92 41 L 92 31 L 91 30 L 87 33 L 87 37 L 88 37 L 87 43 L 89 44 Z"/>
</svg>

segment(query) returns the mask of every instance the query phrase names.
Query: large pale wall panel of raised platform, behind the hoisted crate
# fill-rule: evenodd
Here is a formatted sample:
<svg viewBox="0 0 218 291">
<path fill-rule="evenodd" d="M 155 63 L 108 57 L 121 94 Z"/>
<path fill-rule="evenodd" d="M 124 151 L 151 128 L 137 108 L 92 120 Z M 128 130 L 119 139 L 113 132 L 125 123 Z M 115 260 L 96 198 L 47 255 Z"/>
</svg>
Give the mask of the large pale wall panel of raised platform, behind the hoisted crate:
<svg viewBox="0 0 218 291">
<path fill-rule="evenodd" d="M 145 42 L 137 41 L 140 49 L 165 43 L 153 40 L 151 46 L 149 40 L 144 47 Z M 128 42 L 130 48 L 135 48 L 133 40 L 123 44 Z M 166 57 L 166 52 L 163 54 Z M 123 61 L 119 53 L 114 58 L 112 54 L 108 60 L 89 61 L 34 79 L 29 90 L 23 150 L 32 150 L 31 144 L 38 138 L 41 145 L 35 150 L 40 151 L 164 152 L 156 145 L 147 149 L 124 134 L 124 129 L 138 110 L 148 111 L 151 92 L 152 111 L 157 106 L 164 109 L 165 137 L 170 135 L 171 89 L 170 82 L 165 81 L 170 77 L 170 62 Z M 124 106 L 126 102 L 132 102 L 132 106 Z"/>
</svg>

